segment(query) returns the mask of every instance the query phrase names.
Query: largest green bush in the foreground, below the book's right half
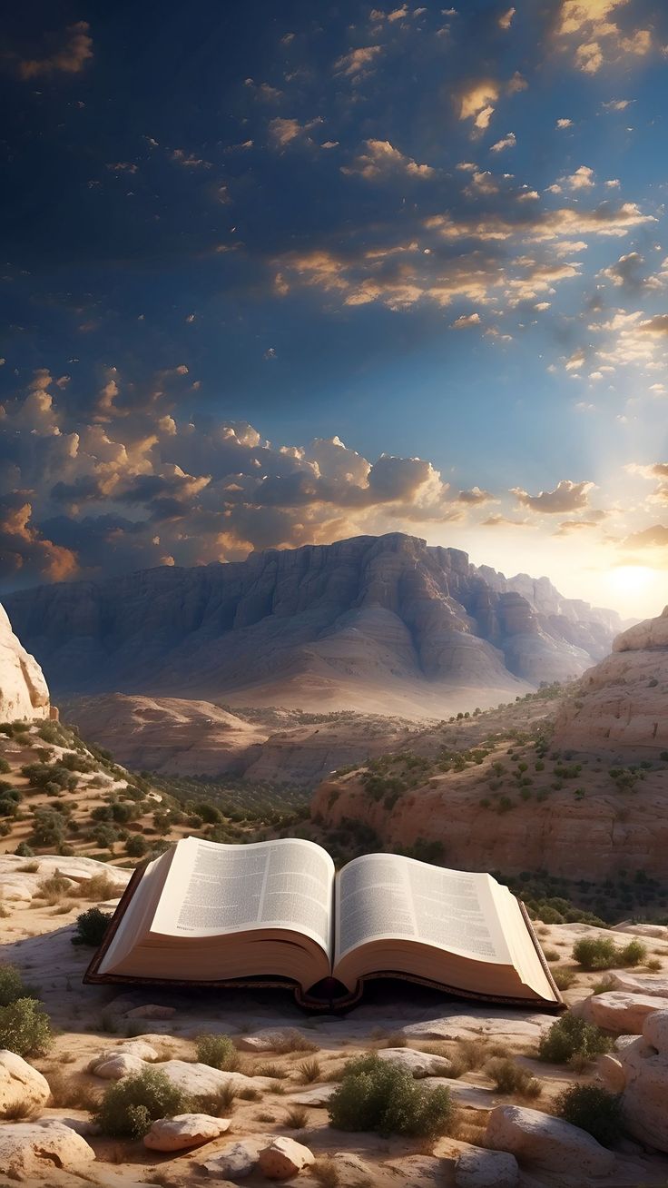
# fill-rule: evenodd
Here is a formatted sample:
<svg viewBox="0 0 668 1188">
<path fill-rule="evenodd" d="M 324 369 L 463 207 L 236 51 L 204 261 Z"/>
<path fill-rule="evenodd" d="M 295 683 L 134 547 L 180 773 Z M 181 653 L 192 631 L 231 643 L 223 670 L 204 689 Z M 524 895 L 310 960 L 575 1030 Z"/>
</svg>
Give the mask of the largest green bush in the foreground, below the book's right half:
<svg viewBox="0 0 668 1188">
<path fill-rule="evenodd" d="M 435 1138 L 451 1129 L 454 1106 L 447 1088 L 428 1089 L 373 1053 L 345 1066 L 329 1114 L 337 1130 Z"/>
</svg>

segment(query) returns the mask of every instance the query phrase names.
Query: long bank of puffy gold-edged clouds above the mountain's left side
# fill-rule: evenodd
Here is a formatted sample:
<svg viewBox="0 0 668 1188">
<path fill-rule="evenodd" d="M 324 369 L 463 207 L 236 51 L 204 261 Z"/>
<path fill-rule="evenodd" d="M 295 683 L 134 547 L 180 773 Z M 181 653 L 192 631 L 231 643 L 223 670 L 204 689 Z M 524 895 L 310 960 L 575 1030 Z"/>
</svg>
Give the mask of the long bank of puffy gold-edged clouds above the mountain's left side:
<svg viewBox="0 0 668 1188">
<path fill-rule="evenodd" d="M 110 383 L 104 422 L 58 409 L 45 368 L 0 411 L 14 486 L 0 501 L 7 588 L 452 523 L 491 499 L 479 487 L 453 498 L 426 459 L 373 461 L 336 436 L 273 446 L 246 423 L 180 421 L 164 398 L 117 418 Z"/>
</svg>

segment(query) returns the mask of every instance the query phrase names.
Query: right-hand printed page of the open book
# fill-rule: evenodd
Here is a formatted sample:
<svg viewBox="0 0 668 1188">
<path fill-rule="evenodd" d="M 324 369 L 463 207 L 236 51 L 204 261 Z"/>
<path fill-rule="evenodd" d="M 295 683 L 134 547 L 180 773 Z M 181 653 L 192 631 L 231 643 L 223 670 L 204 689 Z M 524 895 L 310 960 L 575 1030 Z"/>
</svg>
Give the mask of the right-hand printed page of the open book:
<svg viewBox="0 0 668 1188">
<path fill-rule="evenodd" d="M 335 961 L 381 937 L 511 963 L 488 874 L 447 871 L 397 854 L 356 858 L 337 878 Z"/>
</svg>

